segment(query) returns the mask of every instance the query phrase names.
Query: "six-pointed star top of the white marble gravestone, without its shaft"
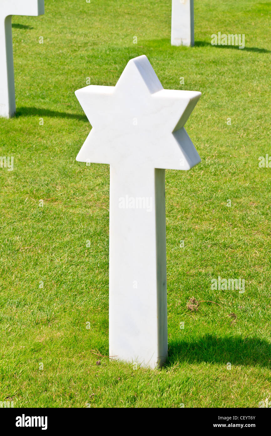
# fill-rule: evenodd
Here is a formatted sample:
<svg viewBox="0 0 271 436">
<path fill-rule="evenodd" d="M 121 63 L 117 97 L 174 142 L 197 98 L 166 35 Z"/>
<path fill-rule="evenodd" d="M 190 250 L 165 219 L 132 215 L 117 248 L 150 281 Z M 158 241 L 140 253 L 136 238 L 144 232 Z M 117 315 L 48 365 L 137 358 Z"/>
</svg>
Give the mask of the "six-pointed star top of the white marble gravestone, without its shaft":
<svg viewBox="0 0 271 436">
<path fill-rule="evenodd" d="M 201 161 L 184 129 L 201 92 L 164 89 L 145 55 L 128 62 L 116 86 L 75 94 L 92 125 L 78 161 L 176 170 Z"/>
</svg>

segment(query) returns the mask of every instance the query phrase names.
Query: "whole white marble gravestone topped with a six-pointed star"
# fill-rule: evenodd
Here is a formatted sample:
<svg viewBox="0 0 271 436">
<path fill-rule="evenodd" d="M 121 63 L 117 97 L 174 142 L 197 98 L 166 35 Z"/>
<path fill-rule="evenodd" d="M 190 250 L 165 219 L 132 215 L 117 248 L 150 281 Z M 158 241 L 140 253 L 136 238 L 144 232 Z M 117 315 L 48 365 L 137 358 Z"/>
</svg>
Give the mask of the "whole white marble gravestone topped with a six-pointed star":
<svg viewBox="0 0 271 436">
<path fill-rule="evenodd" d="M 92 125 L 76 159 L 110 164 L 109 353 L 155 368 L 167 358 L 164 169 L 201 161 L 184 129 L 201 93 L 163 89 L 140 56 L 116 86 L 75 94 Z"/>
</svg>

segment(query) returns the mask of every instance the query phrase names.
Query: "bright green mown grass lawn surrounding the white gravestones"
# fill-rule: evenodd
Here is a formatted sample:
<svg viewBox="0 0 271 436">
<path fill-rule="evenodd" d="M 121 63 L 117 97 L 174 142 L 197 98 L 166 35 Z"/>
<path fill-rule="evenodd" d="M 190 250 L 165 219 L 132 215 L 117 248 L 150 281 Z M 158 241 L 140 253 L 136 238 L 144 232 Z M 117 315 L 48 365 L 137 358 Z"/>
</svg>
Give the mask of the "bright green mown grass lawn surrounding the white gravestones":
<svg viewBox="0 0 271 436">
<path fill-rule="evenodd" d="M 0 155 L 14 156 L 0 168 L 0 401 L 258 407 L 271 397 L 271 169 L 258 167 L 271 154 L 271 1 L 196 0 L 194 48 L 170 45 L 171 0 L 45 3 L 42 17 L 13 17 L 17 116 L 0 120 Z M 245 34 L 244 50 L 211 46 L 218 31 Z M 164 88 L 202 92 L 186 124 L 202 162 L 166 171 L 157 371 L 92 352 L 108 354 L 109 167 L 75 161 L 90 125 L 74 91 L 87 77 L 115 85 L 141 54 Z M 212 291 L 217 276 L 244 278 L 245 292 Z"/>
</svg>

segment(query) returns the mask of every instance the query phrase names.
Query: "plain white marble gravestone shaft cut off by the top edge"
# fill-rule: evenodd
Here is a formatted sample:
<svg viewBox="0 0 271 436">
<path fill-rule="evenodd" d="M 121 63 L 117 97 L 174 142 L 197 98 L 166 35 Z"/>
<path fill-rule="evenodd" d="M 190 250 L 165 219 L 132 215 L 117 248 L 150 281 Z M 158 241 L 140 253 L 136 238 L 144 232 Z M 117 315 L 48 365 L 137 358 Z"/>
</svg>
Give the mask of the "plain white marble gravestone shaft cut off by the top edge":
<svg viewBox="0 0 271 436">
<path fill-rule="evenodd" d="M 194 45 L 194 0 L 172 0 L 171 45 Z"/>
</svg>

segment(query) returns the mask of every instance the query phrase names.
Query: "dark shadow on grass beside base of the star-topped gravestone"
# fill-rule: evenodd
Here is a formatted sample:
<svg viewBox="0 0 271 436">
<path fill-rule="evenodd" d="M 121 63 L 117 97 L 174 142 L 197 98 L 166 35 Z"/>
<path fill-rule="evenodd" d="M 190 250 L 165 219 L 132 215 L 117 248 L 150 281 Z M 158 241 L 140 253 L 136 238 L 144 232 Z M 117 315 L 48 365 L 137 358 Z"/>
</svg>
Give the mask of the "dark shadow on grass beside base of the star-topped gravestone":
<svg viewBox="0 0 271 436">
<path fill-rule="evenodd" d="M 193 341 L 172 341 L 167 366 L 177 361 L 227 365 L 260 365 L 271 368 L 271 344 L 257 337 L 217 337 L 206 334 Z"/>
</svg>

